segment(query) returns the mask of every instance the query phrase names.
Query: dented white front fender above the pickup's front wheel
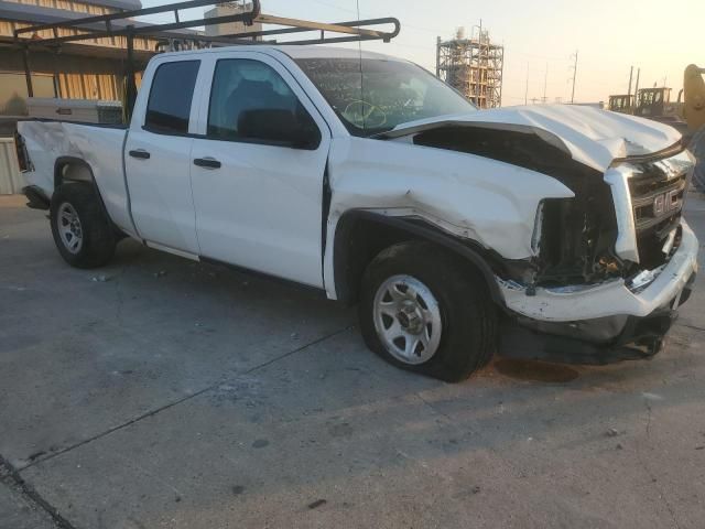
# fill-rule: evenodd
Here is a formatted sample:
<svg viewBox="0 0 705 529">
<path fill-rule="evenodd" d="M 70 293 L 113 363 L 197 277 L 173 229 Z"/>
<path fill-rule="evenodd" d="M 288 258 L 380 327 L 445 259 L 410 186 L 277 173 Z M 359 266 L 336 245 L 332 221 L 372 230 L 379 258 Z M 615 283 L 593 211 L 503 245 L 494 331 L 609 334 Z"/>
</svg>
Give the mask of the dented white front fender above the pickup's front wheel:
<svg viewBox="0 0 705 529">
<path fill-rule="evenodd" d="M 539 203 L 574 196 L 561 182 L 535 171 L 414 145 L 403 138 L 335 138 L 328 166 L 328 240 L 334 240 L 344 213 L 377 209 L 386 215 L 423 217 L 506 259 L 525 259 L 533 255 L 531 237 Z M 327 248 L 326 276 L 333 278 L 333 247 Z"/>
</svg>

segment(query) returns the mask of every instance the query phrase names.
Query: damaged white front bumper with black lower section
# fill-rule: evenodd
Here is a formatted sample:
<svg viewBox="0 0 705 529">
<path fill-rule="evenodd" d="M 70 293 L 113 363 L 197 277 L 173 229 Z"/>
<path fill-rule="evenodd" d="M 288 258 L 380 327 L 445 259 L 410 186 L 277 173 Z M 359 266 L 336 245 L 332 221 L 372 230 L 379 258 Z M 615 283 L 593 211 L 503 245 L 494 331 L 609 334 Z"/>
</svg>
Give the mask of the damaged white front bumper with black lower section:
<svg viewBox="0 0 705 529">
<path fill-rule="evenodd" d="M 697 272 L 698 242 L 681 222 L 681 244 L 657 273 L 638 284 L 623 279 L 594 285 L 536 288 L 497 278 L 511 315 L 500 354 L 572 364 L 644 358 L 663 337 L 690 296 Z"/>
</svg>

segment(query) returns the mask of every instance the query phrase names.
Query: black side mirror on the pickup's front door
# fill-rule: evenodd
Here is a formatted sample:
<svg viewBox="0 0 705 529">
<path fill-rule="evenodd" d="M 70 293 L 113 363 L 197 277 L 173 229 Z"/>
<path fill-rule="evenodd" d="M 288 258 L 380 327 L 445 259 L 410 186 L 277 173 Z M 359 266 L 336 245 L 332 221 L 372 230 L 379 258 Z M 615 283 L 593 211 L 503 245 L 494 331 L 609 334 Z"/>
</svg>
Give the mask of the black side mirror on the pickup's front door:
<svg viewBox="0 0 705 529">
<path fill-rule="evenodd" d="M 293 149 L 314 150 L 321 131 L 307 114 L 285 109 L 245 110 L 238 119 L 238 136 Z"/>
</svg>

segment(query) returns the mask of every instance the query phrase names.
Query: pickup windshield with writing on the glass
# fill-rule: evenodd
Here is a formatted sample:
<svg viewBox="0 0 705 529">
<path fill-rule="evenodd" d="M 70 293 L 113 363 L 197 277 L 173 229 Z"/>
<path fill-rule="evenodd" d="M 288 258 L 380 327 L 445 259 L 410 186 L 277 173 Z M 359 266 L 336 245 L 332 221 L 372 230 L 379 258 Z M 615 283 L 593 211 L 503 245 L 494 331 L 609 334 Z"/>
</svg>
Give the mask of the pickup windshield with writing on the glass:
<svg viewBox="0 0 705 529">
<path fill-rule="evenodd" d="M 351 134 L 372 136 L 424 118 L 477 108 L 420 66 L 383 58 L 301 58 Z M 361 71 L 361 74 L 360 74 Z"/>
</svg>

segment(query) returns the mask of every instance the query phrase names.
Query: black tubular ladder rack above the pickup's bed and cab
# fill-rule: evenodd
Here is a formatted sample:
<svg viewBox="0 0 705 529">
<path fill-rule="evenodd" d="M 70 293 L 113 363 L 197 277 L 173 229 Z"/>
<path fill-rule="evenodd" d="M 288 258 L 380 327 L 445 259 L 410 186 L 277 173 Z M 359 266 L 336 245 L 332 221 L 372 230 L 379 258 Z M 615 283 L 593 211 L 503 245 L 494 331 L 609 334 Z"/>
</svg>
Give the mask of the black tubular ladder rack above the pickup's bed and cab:
<svg viewBox="0 0 705 529">
<path fill-rule="evenodd" d="M 308 20 L 289 19 L 283 17 L 274 17 L 263 14 L 261 12 L 260 0 L 252 0 L 250 9 L 232 14 L 203 18 L 195 20 L 182 20 L 180 11 L 193 8 L 203 8 L 215 6 L 219 2 L 213 0 L 187 0 L 166 6 L 153 8 L 135 9 L 131 11 L 122 11 L 118 13 L 102 14 L 97 17 L 86 17 L 82 19 L 66 20 L 48 24 L 30 25 L 14 31 L 14 44 L 23 50 L 24 75 L 26 79 L 28 94 L 33 97 L 32 76 L 30 68 L 30 50 L 31 48 L 50 48 L 56 53 L 61 51 L 63 44 L 80 41 L 93 41 L 96 39 L 124 36 L 127 41 L 127 86 L 126 86 L 126 106 L 131 110 L 137 97 L 137 84 L 134 80 L 134 37 L 155 37 L 163 39 L 165 43 L 171 40 L 186 41 L 191 43 L 189 47 L 212 47 L 212 46 L 231 46 L 239 44 L 330 44 L 341 42 L 361 42 L 361 41 L 383 41 L 389 42 L 399 34 L 401 24 L 395 18 L 381 18 L 368 20 L 355 20 L 337 23 L 323 23 Z M 135 17 L 148 14 L 172 13 L 173 22 L 160 24 L 144 24 L 134 21 Z M 275 25 L 274 28 L 261 31 L 241 32 L 219 36 L 206 36 L 194 33 L 177 33 L 178 30 L 189 28 L 199 28 L 206 25 L 225 24 L 231 22 L 241 22 L 245 25 L 254 23 Z M 391 31 L 381 31 L 375 26 L 390 25 Z M 372 26 L 372 28 L 370 28 Z M 73 34 L 61 34 L 59 30 L 72 30 Z M 275 40 L 262 41 L 262 36 L 270 35 L 288 35 L 304 32 L 318 32 L 317 39 L 304 39 L 297 41 L 276 42 Z M 43 39 L 40 33 L 50 32 L 48 39 Z M 329 35 L 333 34 L 333 35 Z M 158 45 L 155 52 L 162 51 L 163 46 Z"/>
</svg>

